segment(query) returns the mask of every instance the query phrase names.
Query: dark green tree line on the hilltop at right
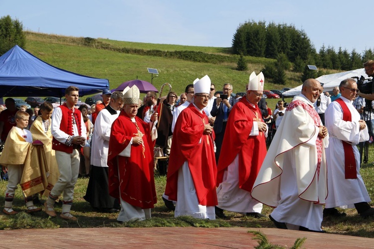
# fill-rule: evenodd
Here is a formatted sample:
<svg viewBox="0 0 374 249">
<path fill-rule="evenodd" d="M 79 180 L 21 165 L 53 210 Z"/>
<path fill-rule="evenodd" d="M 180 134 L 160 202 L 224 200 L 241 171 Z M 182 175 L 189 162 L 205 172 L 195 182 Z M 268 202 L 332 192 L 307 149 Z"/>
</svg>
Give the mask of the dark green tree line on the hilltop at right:
<svg viewBox="0 0 374 249">
<path fill-rule="evenodd" d="M 274 62 L 266 63 L 264 74 L 279 84 L 285 84 L 285 70 L 303 72 L 305 77 L 316 76 L 307 65 L 316 65 L 323 69 L 353 70 L 362 68 L 362 64 L 374 58 L 372 49 L 363 51 L 361 55 L 355 49 L 351 53 L 347 49 L 325 45 L 317 53 L 304 30 L 285 23 L 276 24 L 265 21 L 246 21 L 240 24 L 232 39 L 232 51 L 241 55 L 237 62 L 237 70 L 246 70 L 242 56 L 273 58 Z M 318 77 L 318 76 L 317 76 Z M 315 77 L 313 77 L 315 78 Z"/>
</svg>

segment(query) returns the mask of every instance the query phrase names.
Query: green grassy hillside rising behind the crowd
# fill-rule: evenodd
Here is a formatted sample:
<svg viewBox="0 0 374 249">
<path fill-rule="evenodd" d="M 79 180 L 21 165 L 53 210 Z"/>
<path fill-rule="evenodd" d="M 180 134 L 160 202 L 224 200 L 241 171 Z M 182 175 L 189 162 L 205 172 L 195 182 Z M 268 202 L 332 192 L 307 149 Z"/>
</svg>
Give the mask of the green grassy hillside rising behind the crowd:
<svg viewBox="0 0 374 249">
<path fill-rule="evenodd" d="M 247 72 L 241 72 L 235 70 L 237 55 L 229 55 L 229 48 L 150 44 L 108 39 L 92 39 L 94 40 L 92 43 L 91 38 L 33 32 L 26 32 L 26 38 L 26 50 L 30 53 L 53 66 L 68 71 L 91 77 L 107 78 L 111 89 L 137 77 L 151 82 L 151 74 L 147 72 L 147 67 L 151 67 L 159 70 L 159 76 L 153 79 L 153 84 L 157 89 L 160 89 L 163 83 L 168 82 L 173 86 L 173 91 L 181 94 L 185 91 L 187 84 L 207 74 L 217 89 L 220 89 L 224 83 L 231 83 L 234 93 L 243 92 L 249 74 L 252 71 L 259 73 L 264 67 L 263 63 L 271 60 L 248 57 L 247 61 L 254 63 L 248 64 Z M 190 61 L 189 58 L 164 57 L 164 54 L 142 55 L 149 51 L 187 51 L 187 54 L 188 51 L 193 51 L 198 52 L 199 56 L 216 56 L 218 59 L 214 63 L 206 63 Z M 273 84 L 266 79 L 265 75 L 265 89 L 282 89 L 300 85 L 300 74 L 287 72 L 287 75 L 290 79 L 287 86 Z"/>
</svg>

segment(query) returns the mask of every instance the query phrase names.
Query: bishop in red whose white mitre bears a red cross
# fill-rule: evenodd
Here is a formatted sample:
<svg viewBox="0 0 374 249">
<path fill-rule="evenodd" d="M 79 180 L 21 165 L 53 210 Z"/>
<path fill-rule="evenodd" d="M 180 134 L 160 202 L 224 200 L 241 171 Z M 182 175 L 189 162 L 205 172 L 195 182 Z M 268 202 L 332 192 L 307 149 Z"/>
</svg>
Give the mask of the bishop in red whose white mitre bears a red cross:
<svg viewBox="0 0 374 249">
<path fill-rule="evenodd" d="M 257 104 L 264 89 L 262 72 L 249 76 L 246 95 L 234 105 L 228 117 L 217 168 L 216 215 L 223 210 L 263 217 L 262 203 L 252 199 L 251 190 L 266 155 L 267 125 Z"/>
</svg>

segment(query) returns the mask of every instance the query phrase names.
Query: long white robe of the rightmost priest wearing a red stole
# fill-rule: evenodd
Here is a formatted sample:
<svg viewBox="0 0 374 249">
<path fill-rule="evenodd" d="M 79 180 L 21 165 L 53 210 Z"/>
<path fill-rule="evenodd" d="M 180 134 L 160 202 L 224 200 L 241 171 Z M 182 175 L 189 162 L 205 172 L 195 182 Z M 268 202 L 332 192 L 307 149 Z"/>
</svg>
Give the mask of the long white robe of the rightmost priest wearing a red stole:
<svg viewBox="0 0 374 249">
<path fill-rule="evenodd" d="M 352 101 L 340 97 L 348 106 L 352 122 L 343 121 L 339 103 L 332 102 L 325 112 L 325 124 L 329 130 L 330 145 L 326 149 L 329 195 L 326 208 L 354 208 L 355 203 L 370 202 L 368 191 L 360 175 L 360 152 L 357 144 L 369 140 L 368 127 L 360 131 L 360 114 Z M 345 160 L 342 140 L 352 143 L 356 159 L 357 179 L 345 179 Z"/>
</svg>

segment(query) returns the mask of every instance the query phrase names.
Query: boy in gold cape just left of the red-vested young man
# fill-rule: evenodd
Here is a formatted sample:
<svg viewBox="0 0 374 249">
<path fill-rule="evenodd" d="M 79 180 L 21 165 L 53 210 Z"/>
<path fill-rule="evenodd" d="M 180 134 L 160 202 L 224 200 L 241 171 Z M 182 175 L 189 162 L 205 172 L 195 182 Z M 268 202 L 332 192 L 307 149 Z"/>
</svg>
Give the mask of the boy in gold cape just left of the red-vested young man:
<svg viewBox="0 0 374 249">
<path fill-rule="evenodd" d="M 51 103 L 44 102 L 40 105 L 40 116 L 37 116 L 31 124 L 30 132 L 33 140 L 40 140 L 44 145 L 45 159 L 47 164 L 47 181 L 48 185 L 43 196 L 48 197 L 54 184 L 57 182 L 60 172 L 56 161 L 55 151 L 52 150 L 52 133 L 51 133 L 51 115 L 53 106 Z"/>
</svg>

